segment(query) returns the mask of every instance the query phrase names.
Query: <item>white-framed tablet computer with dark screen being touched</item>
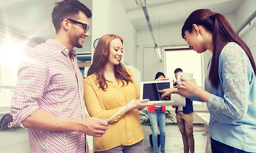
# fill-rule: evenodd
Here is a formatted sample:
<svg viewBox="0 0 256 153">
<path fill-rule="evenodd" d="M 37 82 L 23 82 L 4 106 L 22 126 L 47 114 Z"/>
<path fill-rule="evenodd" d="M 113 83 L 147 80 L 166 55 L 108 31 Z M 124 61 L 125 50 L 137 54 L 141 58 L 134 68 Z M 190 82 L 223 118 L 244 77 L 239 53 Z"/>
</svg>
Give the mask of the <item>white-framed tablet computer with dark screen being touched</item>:
<svg viewBox="0 0 256 153">
<path fill-rule="evenodd" d="M 169 99 L 164 99 L 162 93 L 158 92 L 170 87 L 173 85 L 169 80 L 141 82 L 140 99 L 149 99 L 148 103 L 158 103 L 158 106 L 171 106 L 174 102 L 173 94 Z"/>
</svg>

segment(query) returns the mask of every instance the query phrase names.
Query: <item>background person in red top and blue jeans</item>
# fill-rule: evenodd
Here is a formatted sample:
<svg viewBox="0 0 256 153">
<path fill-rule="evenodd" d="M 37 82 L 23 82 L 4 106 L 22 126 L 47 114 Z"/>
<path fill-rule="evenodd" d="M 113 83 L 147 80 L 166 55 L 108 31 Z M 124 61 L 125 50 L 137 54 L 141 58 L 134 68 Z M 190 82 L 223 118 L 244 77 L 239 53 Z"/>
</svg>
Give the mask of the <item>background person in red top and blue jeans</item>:
<svg viewBox="0 0 256 153">
<path fill-rule="evenodd" d="M 154 80 L 158 78 L 165 78 L 165 74 L 162 72 L 156 73 Z M 148 106 L 147 114 L 151 122 L 153 135 L 153 149 L 154 153 L 158 153 L 158 127 L 160 130 L 160 152 L 165 152 L 165 106 Z"/>
</svg>

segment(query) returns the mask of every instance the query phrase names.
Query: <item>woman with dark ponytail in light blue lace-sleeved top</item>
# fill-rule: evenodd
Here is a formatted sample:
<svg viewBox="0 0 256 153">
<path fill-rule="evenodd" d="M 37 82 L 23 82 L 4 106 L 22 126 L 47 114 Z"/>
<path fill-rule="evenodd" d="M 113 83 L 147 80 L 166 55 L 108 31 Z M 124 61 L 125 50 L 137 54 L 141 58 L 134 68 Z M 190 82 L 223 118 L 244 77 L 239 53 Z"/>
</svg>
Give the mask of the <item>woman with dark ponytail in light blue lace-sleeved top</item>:
<svg viewBox="0 0 256 153">
<path fill-rule="evenodd" d="M 197 53 L 210 50 L 205 90 L 195 80 L 183 80 L 163 97 L 180 94 L 205 101 L 210 113 L 211 150 L 256 151 L 256 66 L 250 48 L 239 38 L 228 20 L 211 10 L 195 10 L 184 22 L 182 36 Z"/>
</svg>

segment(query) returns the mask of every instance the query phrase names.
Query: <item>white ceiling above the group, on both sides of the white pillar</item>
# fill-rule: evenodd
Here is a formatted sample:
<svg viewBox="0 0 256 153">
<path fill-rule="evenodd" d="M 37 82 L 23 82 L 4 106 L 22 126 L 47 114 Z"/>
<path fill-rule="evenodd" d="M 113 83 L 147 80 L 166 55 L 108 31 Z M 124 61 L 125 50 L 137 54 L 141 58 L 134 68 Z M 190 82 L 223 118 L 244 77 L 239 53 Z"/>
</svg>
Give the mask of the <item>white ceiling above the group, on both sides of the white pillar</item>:
<svg viewBox="0 0 256 153">
<path fill-rule="evenodd" d="M 54 3 L 61 0 L 0 0 L 0 29 L 31 38 L 38 43 L 55 36 L 51 22 Z M 91 8 L 91 1 L 80 0 Z M 105 1 L 105 0 L 102 0 Z M 119 0 L 137 31 L 147 29 L 142 8 L 135 0 Z M 245 0 L 246 1 L 246 0 Z M 153 27 L 181 23 L 193 10 L 209 8 L 218 13 L 233 13 L 242 0 L 147 0 L 146 8 Z"/>
</svg>

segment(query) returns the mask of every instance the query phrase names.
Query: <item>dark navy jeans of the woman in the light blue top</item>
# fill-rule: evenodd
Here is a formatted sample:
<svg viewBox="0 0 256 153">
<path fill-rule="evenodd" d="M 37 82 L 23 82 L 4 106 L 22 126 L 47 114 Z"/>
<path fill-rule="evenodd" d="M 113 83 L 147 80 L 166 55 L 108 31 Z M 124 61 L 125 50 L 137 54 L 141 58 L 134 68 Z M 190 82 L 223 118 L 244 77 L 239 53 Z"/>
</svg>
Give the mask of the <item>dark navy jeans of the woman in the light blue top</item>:
<svg viewBox="0 0 256 153">
<path fill-rule="evenodd" d="M 211 152 L 212 153 L 252 153 L 252 152 L 246 152 L 240 149 L 236 149 L 229 145 L 225 145 L 224 143 L 213 140 L 213 138 L 211 138 Z"/>
</svg>

